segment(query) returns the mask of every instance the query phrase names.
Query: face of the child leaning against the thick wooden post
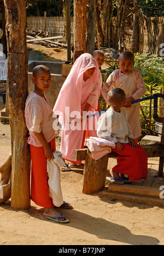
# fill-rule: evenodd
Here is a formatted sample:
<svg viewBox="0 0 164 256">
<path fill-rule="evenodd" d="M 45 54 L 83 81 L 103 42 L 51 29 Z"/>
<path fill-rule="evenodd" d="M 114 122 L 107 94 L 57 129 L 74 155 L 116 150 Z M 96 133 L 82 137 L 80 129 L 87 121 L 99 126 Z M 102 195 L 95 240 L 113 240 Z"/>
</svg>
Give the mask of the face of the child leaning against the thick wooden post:
<svg viewBox="0 0 164 256">
<path fill-rule="evenodd" d="M 36 89 L 43 94 L 51 86 L 51 74 L 49 71 L 38 71 L 36 77 L 32 77 L 32 82 Z"/>
</svg>

